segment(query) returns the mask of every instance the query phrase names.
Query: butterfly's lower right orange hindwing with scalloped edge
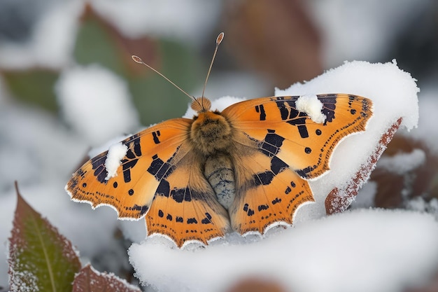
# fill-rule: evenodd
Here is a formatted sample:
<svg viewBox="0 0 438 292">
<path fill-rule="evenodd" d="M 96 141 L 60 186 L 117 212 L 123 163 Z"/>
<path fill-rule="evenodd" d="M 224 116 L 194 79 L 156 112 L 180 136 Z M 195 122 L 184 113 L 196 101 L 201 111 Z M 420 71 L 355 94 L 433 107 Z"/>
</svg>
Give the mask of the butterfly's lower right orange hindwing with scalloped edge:
<svg viewBox="0 0 438 292">
<path fill-rule="evenodd" d="M 241 234 L 263 234 L 274 223 L 292 224 L 298 207 L 313 202 L 309 183 L 275 155 L 237 147 L 246 148 L 248 155 L 235 158 L 239 179 L 234 204 L 229 209 L 232 228 Z"/>
</svg>

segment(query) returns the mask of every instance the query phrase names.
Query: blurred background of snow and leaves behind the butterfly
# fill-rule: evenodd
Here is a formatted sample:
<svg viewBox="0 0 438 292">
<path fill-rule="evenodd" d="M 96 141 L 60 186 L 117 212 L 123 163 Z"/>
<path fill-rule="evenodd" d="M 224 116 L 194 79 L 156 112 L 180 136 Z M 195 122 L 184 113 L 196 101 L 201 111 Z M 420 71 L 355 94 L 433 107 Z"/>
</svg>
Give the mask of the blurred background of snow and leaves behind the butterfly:
<svg viewBox="0 0 438 292">
<path fill-rule="evenodd" d="M 185 113 L 189 100 L 131 55 L 200 95 L 219 32 L 212 99 L 273 95 L 345 60 L 396 59 L 418 79 L 420 124 L 397 135 L 355 207 L 438 214 L 437 15 L 433 0 L 0 1 L 0 291 L 14 180 L 85 261 L 135 281 L 115 212 L 70 202 L 64 185 L 91 147 Z M 143 221 L 138 230 L 131 239 Z"/>
</svg>

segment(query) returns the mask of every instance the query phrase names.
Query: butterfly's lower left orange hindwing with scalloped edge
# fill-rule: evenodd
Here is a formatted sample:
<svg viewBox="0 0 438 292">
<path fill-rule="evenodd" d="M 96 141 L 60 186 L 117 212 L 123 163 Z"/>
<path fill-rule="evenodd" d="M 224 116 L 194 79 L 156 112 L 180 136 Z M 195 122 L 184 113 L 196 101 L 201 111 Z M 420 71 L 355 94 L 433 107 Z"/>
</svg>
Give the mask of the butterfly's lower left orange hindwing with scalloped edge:
<svg viewBox="0 0 438 292">
<path fill-rule="evenodd" d="M 190 148 L 183 145 L 182 148 Z M 227 211 L 202 174 L 202 160 L 187 151 L 173 172 L 157 189 L 150 211 L 146 214 L 148 235 L 167 235 L 178 246 L 198 240 L 223 237 L 229 229 Z"/>
</svg>

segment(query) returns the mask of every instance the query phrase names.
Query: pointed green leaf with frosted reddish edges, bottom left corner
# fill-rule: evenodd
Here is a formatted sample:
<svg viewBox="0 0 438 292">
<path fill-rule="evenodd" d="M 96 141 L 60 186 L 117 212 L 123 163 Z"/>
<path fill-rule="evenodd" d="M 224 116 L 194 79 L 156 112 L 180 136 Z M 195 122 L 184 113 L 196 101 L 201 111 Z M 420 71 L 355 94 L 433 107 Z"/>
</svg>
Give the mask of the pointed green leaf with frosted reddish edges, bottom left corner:
<svg viewBox="0 0 438 292">
<path fill-rule="evenodd" d="M 71 242 L 42 218 L 18 192 L 17 209 L 9 238 L 11 291 L 71 291 L 80 270 Z"/>
</svg>

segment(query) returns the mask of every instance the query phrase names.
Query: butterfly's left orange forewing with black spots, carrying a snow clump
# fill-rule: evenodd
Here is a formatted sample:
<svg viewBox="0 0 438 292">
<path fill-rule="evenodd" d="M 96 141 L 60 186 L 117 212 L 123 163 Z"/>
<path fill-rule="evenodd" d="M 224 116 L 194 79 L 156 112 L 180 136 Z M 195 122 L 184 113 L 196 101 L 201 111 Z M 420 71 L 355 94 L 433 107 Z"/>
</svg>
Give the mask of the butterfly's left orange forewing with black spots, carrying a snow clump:
<svg viewBox="0 0 438 292">
<path fill-rule="evenodd" d="M 127 146 L 127 153 L 114 177 L 106 179 L 106 151 L 80 167 L 66 190 L 73 200 L 89 202 L 93 207 L 101 204 L 114 207 L 120 218 L 141 218 L 189 127 L 190 120 L 181 118 L 134 134 L 121 142 Z"/>
</svg>

